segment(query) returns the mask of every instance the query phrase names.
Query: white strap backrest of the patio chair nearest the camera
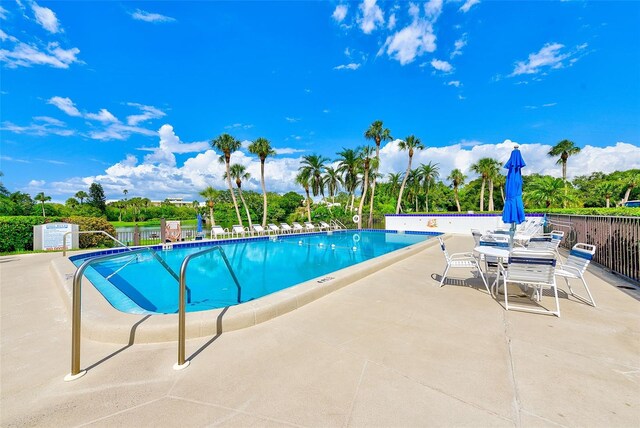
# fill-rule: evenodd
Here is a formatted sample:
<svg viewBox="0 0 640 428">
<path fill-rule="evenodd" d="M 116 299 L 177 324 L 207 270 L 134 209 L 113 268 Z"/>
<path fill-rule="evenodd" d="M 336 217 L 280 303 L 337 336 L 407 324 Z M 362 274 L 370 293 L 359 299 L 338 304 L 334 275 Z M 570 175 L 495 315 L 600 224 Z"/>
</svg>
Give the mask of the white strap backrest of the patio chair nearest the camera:
<svg viewBox="0 0 640 428">
<path fill-rule="evenodd" d="M 556 256 L 553 251 L 515 249 L 509 254 L 508 280 L 529 284 L 553 284 Z"/>
</svg>

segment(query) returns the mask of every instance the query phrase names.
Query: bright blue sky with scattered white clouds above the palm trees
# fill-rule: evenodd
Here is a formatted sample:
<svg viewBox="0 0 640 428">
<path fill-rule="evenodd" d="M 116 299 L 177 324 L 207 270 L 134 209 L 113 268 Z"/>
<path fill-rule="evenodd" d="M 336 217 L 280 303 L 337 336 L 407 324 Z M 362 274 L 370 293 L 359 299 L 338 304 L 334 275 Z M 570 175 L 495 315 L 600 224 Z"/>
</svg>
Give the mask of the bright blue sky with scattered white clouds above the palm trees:
<svg viewBox="0 0 640 428">
<path fill-rule="evenodd" d="M 514 143 L 525 173 L 582 147 L 569 175 L 640 168 L 640 2 L 0 2 L 5 186 L 64 201 L 197 199 L 224 188 L 208 141 L 268 138 L 268 190 L 300 157 L 334 159 L 372 121 L 469 172 Z M 259 163 L 232 162 L 259 190 Z M 397 142 L 381 172 L 406 168 Z M 469 173 L 470 178 L 473 174 Z"/>
</svg>

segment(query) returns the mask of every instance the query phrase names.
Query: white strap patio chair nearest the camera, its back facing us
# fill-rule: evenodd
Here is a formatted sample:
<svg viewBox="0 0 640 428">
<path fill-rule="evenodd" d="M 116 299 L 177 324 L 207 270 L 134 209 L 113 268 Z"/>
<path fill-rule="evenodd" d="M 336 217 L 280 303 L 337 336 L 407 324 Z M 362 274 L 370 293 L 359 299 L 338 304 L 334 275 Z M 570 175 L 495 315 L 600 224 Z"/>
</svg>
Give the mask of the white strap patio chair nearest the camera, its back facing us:
<svg viewBox="0 0 640 428">
<path fill-rule="evenodd" d="M 509 255 L 509 262 L 506 267 L 500 265 L 502 275 L 502 285 L 504 293 L 504 308 L 508 311 L 515 309 L 519 311 L 548 313 L 560 316 L 560 301 L 558 299 L 558 287 L 555 279 L 556 257 L 551 250 L 530 251 L 525 249 L 515 249 Z M 542 297 L 542 290 L 550 288 L 553 290 L 555 298 L 555 311 L 544 307 L 530 307 L 509 304 L 509 284 L 524 285 L 533 287 L 534 294 L 539 302 Z"/>
</svg>

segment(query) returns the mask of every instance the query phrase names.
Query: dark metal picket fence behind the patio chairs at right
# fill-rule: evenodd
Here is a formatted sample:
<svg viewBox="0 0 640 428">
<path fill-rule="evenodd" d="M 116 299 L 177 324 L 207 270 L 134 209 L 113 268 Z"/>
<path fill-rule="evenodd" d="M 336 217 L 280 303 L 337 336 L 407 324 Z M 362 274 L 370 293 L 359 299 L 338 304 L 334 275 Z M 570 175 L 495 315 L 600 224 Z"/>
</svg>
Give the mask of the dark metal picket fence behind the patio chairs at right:
<svg viewBox="0 0 640 428">
<path fill-rule="evenodd" d="M 640 282 L 640 217 L 552 214 L 548 220 L 552 228 L 564 230 L 563 247 L 595 245 L 594 262 Z"/>
</svg>

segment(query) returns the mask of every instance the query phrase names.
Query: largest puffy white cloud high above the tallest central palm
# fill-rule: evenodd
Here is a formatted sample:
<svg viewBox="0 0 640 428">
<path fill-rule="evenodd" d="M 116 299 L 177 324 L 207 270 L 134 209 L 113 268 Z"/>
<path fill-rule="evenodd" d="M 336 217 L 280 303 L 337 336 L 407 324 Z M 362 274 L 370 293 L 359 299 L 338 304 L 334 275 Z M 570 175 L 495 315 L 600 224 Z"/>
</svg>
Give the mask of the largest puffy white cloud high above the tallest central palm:
<svg viewBox="0 0 640 428">
<path fill-rule="evenodd" d="M 409 11 L 413 15 L 413 22 L 387 37 L 384 45 L 378 51 L 382 55 L 386 51 L 387 55 L 405 65 L 413 62 L 416 57 L 426 52 L 436 50 L 436 36 L 433 34 L 433 26 L 426 19 L 420 19 L 419 9 L 410 4 Z"/>
</svg>

